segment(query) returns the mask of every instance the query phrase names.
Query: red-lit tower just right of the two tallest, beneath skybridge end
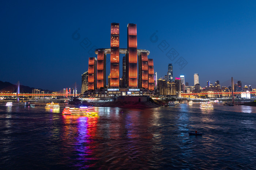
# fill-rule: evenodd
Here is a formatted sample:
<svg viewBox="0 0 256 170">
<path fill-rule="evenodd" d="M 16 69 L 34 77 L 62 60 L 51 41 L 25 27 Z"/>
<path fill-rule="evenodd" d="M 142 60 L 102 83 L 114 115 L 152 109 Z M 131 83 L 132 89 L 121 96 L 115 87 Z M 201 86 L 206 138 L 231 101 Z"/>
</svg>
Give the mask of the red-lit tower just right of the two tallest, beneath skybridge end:
<svg viewBox="0 0 256 170">
<path fill-rule="evenodd" d="M 148 61 L 147 53 L 142 52 L 139 56 L 139 88 L 148 88 Z"/>
</svg>

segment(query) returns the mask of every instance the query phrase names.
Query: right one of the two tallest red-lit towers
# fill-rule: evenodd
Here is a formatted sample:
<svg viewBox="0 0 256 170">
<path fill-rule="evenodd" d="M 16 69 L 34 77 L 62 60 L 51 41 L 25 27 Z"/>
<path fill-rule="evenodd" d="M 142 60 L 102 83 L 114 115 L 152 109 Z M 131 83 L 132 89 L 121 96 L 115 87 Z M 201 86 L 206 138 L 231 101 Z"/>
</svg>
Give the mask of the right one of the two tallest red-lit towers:
<svg viewBox="0 0 256 170">
<path fill-rule="evenodd" d="M 137 87 L 138 68 L 137 68 L 137 26 L 136 24 L 127 25 L 127 75 L 128 87 Z"/>
</svg>

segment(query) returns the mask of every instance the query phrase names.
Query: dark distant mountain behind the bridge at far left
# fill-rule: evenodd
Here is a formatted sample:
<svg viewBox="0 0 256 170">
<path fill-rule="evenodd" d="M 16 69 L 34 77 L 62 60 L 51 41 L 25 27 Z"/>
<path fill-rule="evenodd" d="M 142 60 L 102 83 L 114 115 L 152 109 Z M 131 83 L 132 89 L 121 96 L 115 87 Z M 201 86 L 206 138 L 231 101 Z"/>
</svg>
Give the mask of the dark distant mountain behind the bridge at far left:
<svg viewBox="0 0 256 170">
<path fill-rule="evenodd" d="M 17 85 L 16 84 L 12 84 L 10 82 L 2 82 L 2 81 L 0 81 L 0 91 L 3 90 L 4 88 L 7 88 L 8 90 L 11 90 L 13 92 L 17 91 Z M 32 93 L 32 90 L 35 89 L 35 88 L 34 87 L 20 85 L 19 89 L 20 89 L 20 93 Z M 41 88 L 36 88 L 36 89 L 39 89 L 40 91 L 45 91 L 45 93 L 53 92 L 52 90 L 44 90 L 44 89 L 41 89 Z"/>
</svg>

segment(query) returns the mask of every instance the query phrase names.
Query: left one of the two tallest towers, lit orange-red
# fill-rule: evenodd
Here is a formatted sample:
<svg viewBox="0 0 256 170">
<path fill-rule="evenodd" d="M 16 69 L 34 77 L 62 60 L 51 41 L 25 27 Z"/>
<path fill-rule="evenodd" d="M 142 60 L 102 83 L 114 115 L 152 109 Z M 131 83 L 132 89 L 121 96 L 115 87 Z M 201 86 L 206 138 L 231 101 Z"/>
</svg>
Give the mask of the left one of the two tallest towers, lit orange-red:
<svg viewBox="0 0 256 170">
<path fill-rule="evenodd" d="M 119 23 L 111 23 L 110 87 L 119 87 Z"/>
</svg>

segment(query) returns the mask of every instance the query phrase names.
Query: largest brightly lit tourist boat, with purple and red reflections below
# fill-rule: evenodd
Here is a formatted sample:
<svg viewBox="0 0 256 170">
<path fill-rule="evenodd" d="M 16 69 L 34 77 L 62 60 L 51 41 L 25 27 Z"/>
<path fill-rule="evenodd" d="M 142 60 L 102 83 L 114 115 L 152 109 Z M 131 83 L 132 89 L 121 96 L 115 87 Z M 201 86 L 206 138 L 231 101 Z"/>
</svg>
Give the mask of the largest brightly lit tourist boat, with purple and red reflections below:
<svg viewBox="0 0 256 170">
<path fill-rule="evenodd" d="M 97 116 L 98 112 L 94 110 L 94 107 L 65 107 L 62 111 L 64 115 L 83 115 L 83 116 Z"/>
</svg>

